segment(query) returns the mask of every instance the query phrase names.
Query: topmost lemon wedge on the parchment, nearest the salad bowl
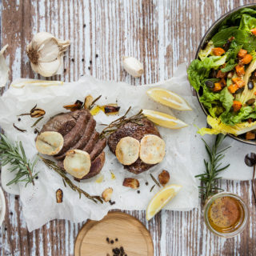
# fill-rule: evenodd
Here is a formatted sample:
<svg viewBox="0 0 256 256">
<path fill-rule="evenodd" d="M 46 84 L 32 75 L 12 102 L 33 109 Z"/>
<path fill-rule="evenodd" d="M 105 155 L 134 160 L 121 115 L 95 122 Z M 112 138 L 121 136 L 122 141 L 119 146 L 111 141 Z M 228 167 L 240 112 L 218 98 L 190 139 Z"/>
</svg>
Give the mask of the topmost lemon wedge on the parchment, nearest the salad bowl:
<svg viewBox="0 0 256 256">
<path fill-rule="evenodd" d="M 184 98 L 178 94 L 174 94 L 170 90 L 152 88 L 147 90 L 146 94 L 148 94 L 150 98 L 153 98 L 155 102 L 159 102 L 165 106 L 170 106 L 175 110 L 192 110 Z"/>
</svg>

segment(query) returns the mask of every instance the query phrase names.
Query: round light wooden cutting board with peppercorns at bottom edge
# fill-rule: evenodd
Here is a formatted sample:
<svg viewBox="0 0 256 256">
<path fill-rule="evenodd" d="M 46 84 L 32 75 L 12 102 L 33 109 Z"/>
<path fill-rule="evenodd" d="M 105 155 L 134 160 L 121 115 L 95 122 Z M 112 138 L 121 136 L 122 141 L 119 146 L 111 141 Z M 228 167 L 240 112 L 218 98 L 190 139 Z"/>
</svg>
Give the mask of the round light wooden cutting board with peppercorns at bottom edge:
<svg viewBox="0 0 256 256">
<path fill-rule="evenodd" d="M 110 212 L 101 221 L 88 221 L 82 226 L 74 244 L 74 256 L 112 256 L 112 250 L 121 246 L 127 256 L 154 256 L 150 232 L 142 222 L 128 214 Z"/>
</svg>

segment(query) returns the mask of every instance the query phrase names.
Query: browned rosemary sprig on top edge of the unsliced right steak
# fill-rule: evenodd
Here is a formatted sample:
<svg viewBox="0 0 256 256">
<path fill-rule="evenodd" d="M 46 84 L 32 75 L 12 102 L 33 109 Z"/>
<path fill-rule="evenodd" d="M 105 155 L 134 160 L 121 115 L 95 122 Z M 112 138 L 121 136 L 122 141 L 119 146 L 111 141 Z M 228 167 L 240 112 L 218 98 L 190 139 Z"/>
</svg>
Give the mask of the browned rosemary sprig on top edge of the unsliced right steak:
<svg viewBox="0 0 256 256">
<path fill-rule="evenodd" d="M 124 114 L 121 118 L 118 118 L 118 119 L 114 120 L 113 122 L 110 122 L 110 124 L 102 130 L 102 133 L 100 134 L 100 138 L 108 137 L 110 134 L 113 134 L 115 130 L 118 130 L 118 128 L 120 126 L 123 126 L 126 122 L 134 122 L 138 125 L 142 125 L 140 123 L 142 121 L 142 118 L 146 118 L 142 114 L 143 110 L 140 110 L 138 112 L 138 114 L 135 114 L 135 115 L 131 116 L 130 118 L 127 118 L 127 114 L 130 112 L 130 110 L 131 110 L 131 106 L 126 111 L 126 114 Z"/>
</svg>

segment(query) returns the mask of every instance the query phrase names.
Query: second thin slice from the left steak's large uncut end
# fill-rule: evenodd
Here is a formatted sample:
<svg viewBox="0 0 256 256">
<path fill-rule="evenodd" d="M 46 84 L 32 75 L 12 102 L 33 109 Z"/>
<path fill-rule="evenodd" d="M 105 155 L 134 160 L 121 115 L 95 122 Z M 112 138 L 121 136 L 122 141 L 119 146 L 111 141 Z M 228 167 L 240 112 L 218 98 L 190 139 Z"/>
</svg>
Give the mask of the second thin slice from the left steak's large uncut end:
<svg viewBox="0 0 256 256">
<path fill-rule="evenodd" d="M 93 116 L 90 114 L 89 121 L 87 122 L 86 130 L 84 134 L 82 134 L 82 137 L 78 140 L 78 142 L 68 150 L 82 150 L 82 148 L 86 146 L 86 144 L 89 142 L 90 136 L 91 134 L 93 134 L 95 126 L 96 126 L 96 121 L 94 120 Z M 57 160 L 62 160 L 65 158 L 65 156 L 66 156 L 66 152 L 64 152 L 59 156 L 56 156 L 55 158 Z"/>
</svg>

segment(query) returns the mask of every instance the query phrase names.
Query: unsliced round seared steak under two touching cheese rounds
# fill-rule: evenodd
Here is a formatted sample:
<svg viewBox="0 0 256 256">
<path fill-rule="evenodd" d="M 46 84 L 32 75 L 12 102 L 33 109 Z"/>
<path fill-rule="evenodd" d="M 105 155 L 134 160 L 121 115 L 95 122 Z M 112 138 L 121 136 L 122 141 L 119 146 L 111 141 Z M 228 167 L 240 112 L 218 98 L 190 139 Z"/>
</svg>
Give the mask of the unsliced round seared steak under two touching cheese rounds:
<svg viewBox="0 0 256 256">
<path fill-rule="evenodd" d="M 138 139 L 138 141 L 141 141 L 146 134 L 154 134 L 161 138 L 156 126 L 154 126 L 153 122 L 147 118 L 143 118 L 139 125 L 134 122 L 127 122 L 110 135 L 107 144 L 110 146 L 111 152 L 115 154 L 115 149 L 121 138 L 130 136 Z M 154 165 L 146 164 L 145 162 L 142 162 L 140 158 L 138 158 L 137 161 L 130 166 L 124 167 L 134 174 L 140 174 L 143 171 L 149 170 L 152 166 Z"/>
</svg>

